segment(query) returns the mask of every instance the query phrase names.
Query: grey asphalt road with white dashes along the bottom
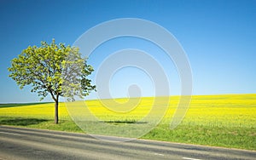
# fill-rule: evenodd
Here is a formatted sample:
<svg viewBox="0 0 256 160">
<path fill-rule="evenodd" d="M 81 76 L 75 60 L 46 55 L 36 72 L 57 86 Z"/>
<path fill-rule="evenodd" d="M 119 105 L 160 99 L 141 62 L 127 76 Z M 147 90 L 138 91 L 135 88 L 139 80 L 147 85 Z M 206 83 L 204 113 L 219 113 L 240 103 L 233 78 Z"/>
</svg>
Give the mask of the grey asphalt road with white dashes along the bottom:
<svg viewBox="0 0 256 160">
<path fill-rule="evenodd" d="M 107 137 L 108 138 L 108 137 Z M 113 138 L 119 140 L 119 138 Z M 0 159 L 256 159 L 256 151 L 0 126 Z"/>
</svg>

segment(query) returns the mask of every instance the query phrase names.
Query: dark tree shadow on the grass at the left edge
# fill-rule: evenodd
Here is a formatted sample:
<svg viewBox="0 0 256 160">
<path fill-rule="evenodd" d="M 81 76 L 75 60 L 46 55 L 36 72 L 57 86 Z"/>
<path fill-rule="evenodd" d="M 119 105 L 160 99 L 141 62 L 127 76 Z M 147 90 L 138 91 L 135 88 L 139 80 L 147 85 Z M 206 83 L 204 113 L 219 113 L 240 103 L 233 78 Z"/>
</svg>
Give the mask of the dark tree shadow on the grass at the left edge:
<svg viewBox="0 0 256 160">
<path fill-rule="evenodd" d="M 49 120 L 38 118 L 5 117 L 0 119 L 0 125 L 28 126 L 32 124 L 44 123 L 47 121 Z"/>
</svg>

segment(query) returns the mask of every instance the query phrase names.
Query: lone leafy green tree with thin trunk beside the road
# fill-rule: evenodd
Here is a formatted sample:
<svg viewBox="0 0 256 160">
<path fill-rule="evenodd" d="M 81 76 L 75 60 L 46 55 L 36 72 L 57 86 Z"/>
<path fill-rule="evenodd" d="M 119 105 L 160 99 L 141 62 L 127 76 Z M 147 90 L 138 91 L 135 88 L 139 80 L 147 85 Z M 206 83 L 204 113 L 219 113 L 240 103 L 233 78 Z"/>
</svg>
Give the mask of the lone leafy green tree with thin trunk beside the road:
<svg viewBox="0 0 256 160">
<path fill-rule="evenodd" d="M 9 77 L 23 89 L 32 85 L 32 92 L 37 92 L 44 100 L 48 94 L 55 101 L 55 123 L 58 123 L 59 97 L 74 100 L 75 96 L 83 98 L 96 90 L 87 77 L 93 67 L 87 65 L 86 58 L 82 58 L 79 48 L 65 46 L 64 43 L 55 44 L 41 42 L 41 46 L 29 46 L 18 58 L 11 61 Z"/>
</svg>

